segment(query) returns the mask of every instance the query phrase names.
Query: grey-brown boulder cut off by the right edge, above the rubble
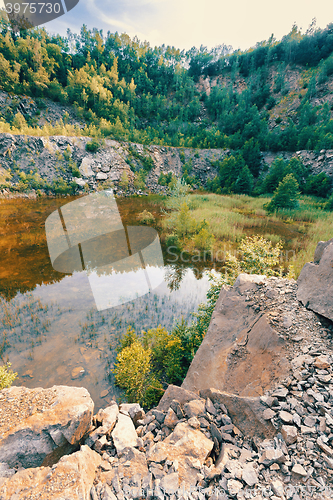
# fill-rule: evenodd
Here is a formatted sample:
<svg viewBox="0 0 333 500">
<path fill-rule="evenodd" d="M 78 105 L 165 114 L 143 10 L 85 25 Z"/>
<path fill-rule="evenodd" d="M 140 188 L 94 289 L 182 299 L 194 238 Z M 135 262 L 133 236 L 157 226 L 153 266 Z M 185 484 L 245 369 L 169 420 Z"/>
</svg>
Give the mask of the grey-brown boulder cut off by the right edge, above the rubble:
<svg viewBox="0 0 333 500">
<path fill-rule="evenodd" d="M 297 298 L 308 309 L 333 321 L 333 238 L 318 243 L 313 260 L 299 275 Z"/>
</svg>

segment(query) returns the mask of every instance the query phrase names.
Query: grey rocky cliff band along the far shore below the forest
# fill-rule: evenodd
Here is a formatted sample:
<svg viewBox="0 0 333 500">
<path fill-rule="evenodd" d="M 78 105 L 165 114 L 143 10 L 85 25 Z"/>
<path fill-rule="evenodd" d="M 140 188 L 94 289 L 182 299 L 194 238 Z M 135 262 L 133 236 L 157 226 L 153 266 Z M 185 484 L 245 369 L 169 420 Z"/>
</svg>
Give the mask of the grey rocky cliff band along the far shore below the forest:
<svg viewBox="0 0 333 500">
<path fill-rule="evenodd" d="M 162 146 L 143 146 L 142 144 L 120 143 L 106 140 L 98 151 L 91 153 L 86 145 L 91 142 L 87 137 L 33 137 L 24 135 L 0 134 L 0 188 L 4 194 L 19 189 L 20 172 L 38 173 L 47 183 L 64 179 L 67 184 L 75 182 L 78 190 L 103 189 L 111 184 L 122 191 L 119 184 L 124 173 L 129 180 L 129 192 L 137 192 L 134 186 L 134 171 L 147 169 L 144 191 L 163 193 L 166 188 L 158 184 L 160 174 L 172 172 L 181 177 L 185 168 L 191 165 L 191 175 L 196 176 L 202 185 L 207 179 L 214 178 L 217 168 L 214 161 L 227 156 L 229 150 L 172 148 Z M 298 151 L 262 154 L 262 165 L 270 165 L 277 156 L 290 160 L 299 156 L 314 174 L 326 172 L 333 176 L 333 150 Z M 146 165 L 145 165 L 146 164 Z M 187 167 L 186 167 L 186 165 Z M 35 191 L 41 189 L 35 182 Z M 15 188 L 16 186 L 16 188 Z"/>
</svg>

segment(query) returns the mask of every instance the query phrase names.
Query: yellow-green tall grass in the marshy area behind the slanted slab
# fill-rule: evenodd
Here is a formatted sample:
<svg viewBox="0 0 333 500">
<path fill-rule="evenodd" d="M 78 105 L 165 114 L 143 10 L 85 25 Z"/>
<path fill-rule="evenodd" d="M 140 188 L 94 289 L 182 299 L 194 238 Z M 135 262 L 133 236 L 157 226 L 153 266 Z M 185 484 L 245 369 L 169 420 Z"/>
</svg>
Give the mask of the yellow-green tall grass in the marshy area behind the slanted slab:
<svg viewBox="0 0 333 500">
<path fill-rule="evenodd" d="M 193 194 L 188 199 L 191 216 L 197 222 L 205 219 L 210 224 L 216 238 L 214 252 L 226 244 L 235 248 L 245 235 L 262 235 L 273 244 L 282 241 L 284 249 L 291 250 L 290 261 L 285 264 L 293 264 L 296 277 L 313 259 L 318 241 L 333 237 L 333 213 L 323 210 L 315 197 L 302 196 L 297 209 L 270 215 L 264 209 L 267 197 L 207 193 Z M 170 201 L 163 203 L 173 208 Z M 172 231 L 174 221 L 175 212 L 171 212 L 162 223 L 164 230 Z"/>
</svg>

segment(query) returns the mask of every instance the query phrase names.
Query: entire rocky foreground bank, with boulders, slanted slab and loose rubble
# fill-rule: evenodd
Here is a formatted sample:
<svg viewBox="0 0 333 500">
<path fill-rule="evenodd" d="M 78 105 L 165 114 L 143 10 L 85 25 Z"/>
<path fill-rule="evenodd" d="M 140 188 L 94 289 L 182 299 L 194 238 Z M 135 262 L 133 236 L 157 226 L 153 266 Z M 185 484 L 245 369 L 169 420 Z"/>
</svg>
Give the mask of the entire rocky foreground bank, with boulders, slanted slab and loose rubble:
<svg viewBox="0 0 333 500">
<path fill-rule="evenodd" d="M 313 265 L 332 248 L 321 242 Z M 113 403 L 91 418 L 74 387 L 1 391 L 0 500 L 332 498 L 332 307 L 306 309 L 303 285 L 240 275 L 183 387 L 147 413 Z M 52 466 L 46 438 L 52 458 L 64 442 L 81 449 Z"/>
</svg>

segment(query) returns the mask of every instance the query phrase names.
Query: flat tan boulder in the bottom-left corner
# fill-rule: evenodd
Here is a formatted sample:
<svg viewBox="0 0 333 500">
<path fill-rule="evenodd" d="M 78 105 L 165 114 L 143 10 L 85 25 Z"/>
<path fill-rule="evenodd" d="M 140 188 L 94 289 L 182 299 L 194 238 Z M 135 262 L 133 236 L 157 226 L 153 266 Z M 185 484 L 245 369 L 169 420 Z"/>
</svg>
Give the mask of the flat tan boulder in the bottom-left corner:
<svg viewBox="0 0 333 500">
<path fill-rule="evenodd" d="M 88 500 L 101 463 L 88 446 L 66 455 L 51 467 L 21 469 L 0 483 L 0 500 Z"/>
</svg>

